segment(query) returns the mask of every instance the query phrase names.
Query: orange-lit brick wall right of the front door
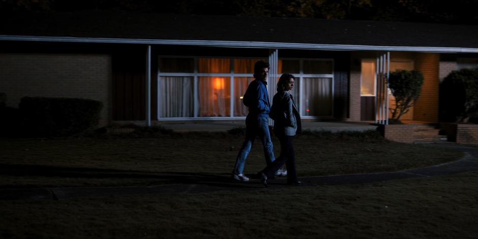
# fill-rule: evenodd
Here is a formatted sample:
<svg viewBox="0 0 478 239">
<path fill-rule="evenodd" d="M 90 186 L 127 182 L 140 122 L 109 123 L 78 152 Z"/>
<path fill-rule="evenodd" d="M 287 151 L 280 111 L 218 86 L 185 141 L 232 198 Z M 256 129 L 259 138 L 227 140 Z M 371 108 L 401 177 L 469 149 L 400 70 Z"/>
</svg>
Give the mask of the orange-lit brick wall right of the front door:
<svg viewBox="0 0 478 239">
<path fill-rule="evenodd" d="M 417 53 L 415 70 L 424 75 L 420 98 L 413 108 L 415 121 L 438 122 L 439 54 Z"/>
</svg>

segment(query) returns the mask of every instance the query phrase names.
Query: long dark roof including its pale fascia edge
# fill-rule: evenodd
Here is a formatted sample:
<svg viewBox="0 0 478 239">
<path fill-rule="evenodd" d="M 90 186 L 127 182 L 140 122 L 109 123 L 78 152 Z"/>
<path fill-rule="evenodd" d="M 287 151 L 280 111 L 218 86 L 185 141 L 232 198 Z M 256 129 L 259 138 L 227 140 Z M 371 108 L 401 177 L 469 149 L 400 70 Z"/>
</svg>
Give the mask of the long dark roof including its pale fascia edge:
<svg viewBox="0 0 478 239">
<path fill-rule="evenodd" d="M 0 40 L 478 52 L 478 26 L 129 12 L 0 16 Z"/>
</svg>

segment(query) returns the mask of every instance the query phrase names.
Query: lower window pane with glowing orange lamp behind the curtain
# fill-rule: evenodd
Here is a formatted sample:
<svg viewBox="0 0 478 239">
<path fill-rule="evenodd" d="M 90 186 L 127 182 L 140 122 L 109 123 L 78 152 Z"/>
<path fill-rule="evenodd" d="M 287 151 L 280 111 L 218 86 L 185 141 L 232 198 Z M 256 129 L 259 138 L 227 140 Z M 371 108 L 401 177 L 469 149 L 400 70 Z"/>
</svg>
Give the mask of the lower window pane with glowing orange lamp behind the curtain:
<svg viewBox="0 0 478 239">
<path fill-rule="evenodd" d="M 230 116 L 229 77 L 199 77 L 199 116 Z"/>
</svg>

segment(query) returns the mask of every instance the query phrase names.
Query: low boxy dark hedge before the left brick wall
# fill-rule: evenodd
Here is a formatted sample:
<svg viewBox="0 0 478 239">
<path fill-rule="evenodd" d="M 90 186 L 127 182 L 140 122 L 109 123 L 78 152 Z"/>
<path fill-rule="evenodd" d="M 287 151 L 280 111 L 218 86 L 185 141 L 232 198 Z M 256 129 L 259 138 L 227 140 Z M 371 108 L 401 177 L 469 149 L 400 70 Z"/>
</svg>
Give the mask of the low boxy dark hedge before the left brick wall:
<svg viewBox="0 0 478 239">
<path fill-rule="evenodd" d="M 23 97 L 19 109 L 28 136 L 68 136 L 98 125 L 103 104 L 74 98 Z"/>
</svg>

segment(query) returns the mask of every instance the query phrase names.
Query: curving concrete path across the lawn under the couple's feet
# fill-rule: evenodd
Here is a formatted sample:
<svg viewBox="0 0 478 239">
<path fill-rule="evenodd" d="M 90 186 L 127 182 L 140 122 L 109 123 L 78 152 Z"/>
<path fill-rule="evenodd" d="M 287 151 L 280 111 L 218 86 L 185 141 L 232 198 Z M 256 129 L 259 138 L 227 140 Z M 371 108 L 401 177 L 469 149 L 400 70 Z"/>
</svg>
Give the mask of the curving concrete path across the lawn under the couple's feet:
<svg viewBox="0 0 478 239">
<path fill-rule="evenodd" d="M 440 165 L 402 170 L 396 172 L 379 172 L 365 174 L 326 175 L 301 177 L 300 180 L 305 186 L 315 185 L 343 185 L 343 184 L 364 184 L 384 182 L 390 180 L 401 180 L 405 178 L 430 177 L 438 175 L 449 175 L 461 172 L 478 171 L 478 148 L 457 145 L 437 145 L 440 147 L 451 147 L 461 150 L 465 156 L 457 161 Z M 251 175 L 255 176 L 255 175 Z M 190 174 L 180 173 L 175 177 L 177 184 L 158 185 L 150 187 L 77 187 L 77 188 L 37 188 L 37 189 L 0 189 L 0 200 L 18 199 L 69 199 L 84 196 L 112 196 L 131 194 L 152 194 L 152 193 L 201 193 L 215 191 L 250 191 L 263 190 L 263 186 L 257 178 L 250 182 L 234 182 L 230 173 L 222 174 Z M 285 178 L 268 180 L 269 188 L 297 187 L 286 184 Z"/>
</svg>

